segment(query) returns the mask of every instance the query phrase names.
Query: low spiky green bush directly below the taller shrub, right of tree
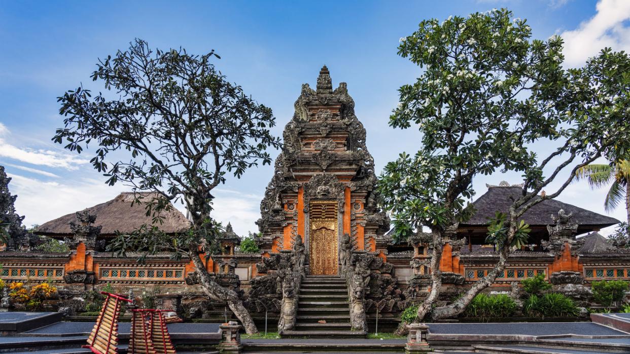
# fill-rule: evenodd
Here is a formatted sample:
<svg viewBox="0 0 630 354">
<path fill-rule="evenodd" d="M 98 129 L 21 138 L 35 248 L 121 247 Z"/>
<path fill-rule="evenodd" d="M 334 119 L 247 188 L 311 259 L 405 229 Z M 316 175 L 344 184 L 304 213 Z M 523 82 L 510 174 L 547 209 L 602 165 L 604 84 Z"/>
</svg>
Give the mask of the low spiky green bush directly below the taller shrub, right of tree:
<svg viewBox="0 0 630 354">
<path fill-rule="evenodd" d="M 580 310 L 569 297 L 556 292 L 543 296 L 530 295 L 523 304 L 523 313 L 531 317 L 578 316 Z"/>
</svg>

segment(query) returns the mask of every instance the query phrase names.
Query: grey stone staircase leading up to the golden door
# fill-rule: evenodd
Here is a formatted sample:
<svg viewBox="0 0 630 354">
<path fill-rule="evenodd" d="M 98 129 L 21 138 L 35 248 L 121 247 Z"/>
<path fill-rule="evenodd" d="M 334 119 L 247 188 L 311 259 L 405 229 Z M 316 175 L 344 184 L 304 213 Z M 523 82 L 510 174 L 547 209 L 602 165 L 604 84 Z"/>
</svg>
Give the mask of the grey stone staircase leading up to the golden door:
<svg viewBox="0 0 630 354">
<path fill-rule="evenodd" d="M 345 279 L 336 275 L 307 275 L 302 279 L 295 329 L 284 331 L 283 338 L 365 338 L 366 334 L 350 328 Z"/>
</svg>

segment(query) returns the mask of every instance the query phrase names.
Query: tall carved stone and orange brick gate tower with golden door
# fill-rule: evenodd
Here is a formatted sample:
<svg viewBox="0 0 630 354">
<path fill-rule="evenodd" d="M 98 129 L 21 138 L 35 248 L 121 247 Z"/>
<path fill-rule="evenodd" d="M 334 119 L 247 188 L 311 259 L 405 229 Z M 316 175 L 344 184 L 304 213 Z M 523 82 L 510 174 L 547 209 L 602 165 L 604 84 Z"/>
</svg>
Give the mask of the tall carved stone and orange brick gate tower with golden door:
<svg viewBox="0 0 630 354">
<path fill-rule="evenodd" d="M 317 91 L 302 85 L 293 119 L 284 129 L 284 150 L 260 204 L 256 223 L 266 255 L 304 241 L 307 272 L 338 274 L 341 236 L 354 250 L 386 255 L 389 218 L 377 207 L 374 159 L 365 128 L 345 82 L 333 91 L 326 66 Z"/>
</svg>

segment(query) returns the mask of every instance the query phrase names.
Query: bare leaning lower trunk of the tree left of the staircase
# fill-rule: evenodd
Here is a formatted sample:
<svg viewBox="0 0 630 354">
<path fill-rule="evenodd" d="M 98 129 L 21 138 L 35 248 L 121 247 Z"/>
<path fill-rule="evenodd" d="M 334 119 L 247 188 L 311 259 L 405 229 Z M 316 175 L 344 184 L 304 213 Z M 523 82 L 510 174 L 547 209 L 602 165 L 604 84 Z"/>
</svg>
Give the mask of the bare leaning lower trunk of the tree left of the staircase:
<svg viewBox="0 0 630 354">
<path fill-rule="evenodd" d="M 243 328 L 245 332 L 248 334 L 258 333 L 258 329 L 256 328 L 256 324 L 253 319 L 249 315 L 249 311 L 243 306 L 243 302 L 239 299 L 238 294 L 236 292 L 226 289 L 221 285 L 214 282 L 210 279 L 210 274 L 208 274 L 203 262 L 199 258 L 199 255 L 196 250 L 190 252 L 190 258 L 193 260 L 193 264 L 195 264 L 195 268 L 197 268 L 197 275 L 199 276 L 199 283 L 202 286 L 203 291 L 212 299 L 217 301 L 225 301 L 227 306 L 230 307 L 232 312 L 236 315 L 236 317 L 243 324 Z"/>
</svg>

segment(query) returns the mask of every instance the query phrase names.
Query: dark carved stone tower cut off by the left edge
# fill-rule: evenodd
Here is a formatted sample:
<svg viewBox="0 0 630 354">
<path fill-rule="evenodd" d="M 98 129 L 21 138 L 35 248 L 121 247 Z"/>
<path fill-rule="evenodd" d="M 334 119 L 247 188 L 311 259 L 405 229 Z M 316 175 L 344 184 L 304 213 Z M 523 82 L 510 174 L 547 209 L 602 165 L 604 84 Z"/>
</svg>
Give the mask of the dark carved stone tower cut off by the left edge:
<svg viewBox="0 0 630 354">
<path fill-rule="evenodd" d="M 23 242 L 26 228 L 22 225 L 24 216 L 15 211 L 18 196 L 11 195 L 9 182 L 11 177 L 4 172 L 4 166 L 0 166 L 0 243 L 6 243 L 7 248 L 15 250 Z"/>
</svg>

